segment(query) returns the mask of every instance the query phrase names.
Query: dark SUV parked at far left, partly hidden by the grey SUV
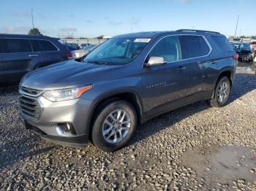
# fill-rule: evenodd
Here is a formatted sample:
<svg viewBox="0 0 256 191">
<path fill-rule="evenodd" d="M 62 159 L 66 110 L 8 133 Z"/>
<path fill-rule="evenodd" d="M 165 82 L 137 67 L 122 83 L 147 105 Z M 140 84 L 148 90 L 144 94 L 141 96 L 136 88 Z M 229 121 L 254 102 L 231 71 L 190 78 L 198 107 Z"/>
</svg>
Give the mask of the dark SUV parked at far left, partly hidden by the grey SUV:
<svg viewBox="0 0 256 191">
<path fill-rule="evenodd" d="M 71 56 L 56 38 L 0 34 L 0 85 L 18 85 L 28 71 Z"/>
</svg>

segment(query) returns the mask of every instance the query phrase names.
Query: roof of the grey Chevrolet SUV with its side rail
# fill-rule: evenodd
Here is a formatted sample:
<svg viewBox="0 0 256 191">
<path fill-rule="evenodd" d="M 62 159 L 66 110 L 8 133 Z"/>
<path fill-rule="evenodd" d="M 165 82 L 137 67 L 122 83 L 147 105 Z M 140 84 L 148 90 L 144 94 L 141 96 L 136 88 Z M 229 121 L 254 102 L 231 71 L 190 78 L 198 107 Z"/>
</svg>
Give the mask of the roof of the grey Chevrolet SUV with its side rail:
<svg viewBox="0 0 256 191">
<path fill-rule="evenodd" d="M 219 32 L 215 31 L 203 31 L 203 30 L 191 30 L 191 29 L 179 29 L 177 31 L 145 31 L 139 33 L 131 33 L 131 34 L 121 34 L 118 36 L 114 36 L 113 38 L 154 38 L 156 36 L 162 34 L 215 34 L 220 35 Z"/>
</svg>

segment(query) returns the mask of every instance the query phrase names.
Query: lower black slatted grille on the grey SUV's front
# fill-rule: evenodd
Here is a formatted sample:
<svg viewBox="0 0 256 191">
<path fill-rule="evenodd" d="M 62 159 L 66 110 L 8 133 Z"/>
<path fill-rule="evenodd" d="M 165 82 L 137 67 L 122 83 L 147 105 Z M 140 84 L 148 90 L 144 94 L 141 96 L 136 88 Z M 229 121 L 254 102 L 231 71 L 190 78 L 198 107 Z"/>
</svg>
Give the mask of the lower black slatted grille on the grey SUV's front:
<svg viewBox="0 0 256 191">
<path fill-rule="evenodd" d="M 41 112 L 41 107 L 36 98 L 31 98 L 27 95 L 20 95 L 21 114 L 26 117 L 38 120 Z"/>
</svg>

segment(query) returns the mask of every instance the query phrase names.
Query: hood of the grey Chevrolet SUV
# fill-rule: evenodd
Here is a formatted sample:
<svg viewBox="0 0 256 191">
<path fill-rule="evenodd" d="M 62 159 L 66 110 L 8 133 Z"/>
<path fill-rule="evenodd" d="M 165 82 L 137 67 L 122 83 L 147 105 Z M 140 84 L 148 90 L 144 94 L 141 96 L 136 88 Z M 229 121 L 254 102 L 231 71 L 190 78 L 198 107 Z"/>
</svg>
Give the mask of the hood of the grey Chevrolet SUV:
<svg viewBox="0 0 256 191">
<path fill-rule="evenodd" d="M 38 90 L 78 87 L 93 84 L 100 74 L 116 69 L 118 66 L 64 61 L 29 72 L 20 85 Z"/>
</svg>

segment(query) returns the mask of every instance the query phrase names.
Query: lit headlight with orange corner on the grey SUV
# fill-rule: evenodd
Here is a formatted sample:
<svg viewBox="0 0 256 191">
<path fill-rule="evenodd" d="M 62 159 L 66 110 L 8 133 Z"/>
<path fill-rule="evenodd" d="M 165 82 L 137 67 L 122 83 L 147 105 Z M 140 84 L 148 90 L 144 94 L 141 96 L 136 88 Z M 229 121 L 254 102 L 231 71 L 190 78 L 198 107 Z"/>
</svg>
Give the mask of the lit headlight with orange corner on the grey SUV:
<svg viewBox="0 0 256 191">
<path fill-rule="evenodd" d="M 86 87 L 77 87 L 62 90 L 48 90 L 43 96 L 50 101 L 66 101 L 70 99 L 79 98 L 84 92 L 91 90 L 92 85 Z"/>
</svg>

